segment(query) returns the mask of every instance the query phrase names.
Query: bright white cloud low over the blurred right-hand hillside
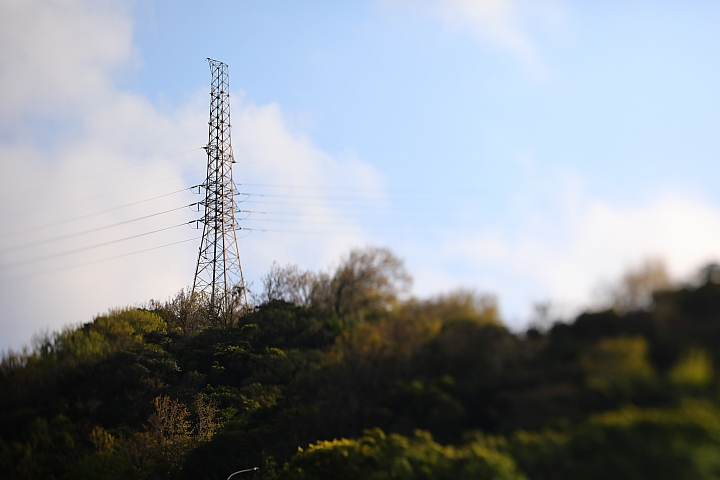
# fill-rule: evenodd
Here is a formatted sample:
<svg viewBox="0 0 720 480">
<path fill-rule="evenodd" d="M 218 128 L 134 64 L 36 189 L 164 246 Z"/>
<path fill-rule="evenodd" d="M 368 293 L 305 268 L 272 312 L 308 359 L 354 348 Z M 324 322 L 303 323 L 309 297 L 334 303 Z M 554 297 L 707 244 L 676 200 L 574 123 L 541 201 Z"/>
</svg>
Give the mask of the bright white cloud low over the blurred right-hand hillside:
<svg viewBox="0 0 720 480">
<path fill-rule="evenodd" d="M 546 217 L 542 228 L 526 225 L 515 236 L 496 230 L 448 239 L 434 268 L 419 276 L 418 287 L 436 288 L 433 270 L 466 262 L 470 273 L 444 283 L 481 285 L 497 293 L 517 327 L 535 302 L 589 306 L 599 284 L 614 281 L 642 259 L 665 259 L 674 278 L 687 279 L 720 258 L 720 210 L 691 195 L 667 193 L 633 206 L 583 200 L 577 193 L 568 200 L 573 205 L 564 209 L 565 217 Z M 548 235 L 548 227 L 555 232 Z"/>
</svg>

